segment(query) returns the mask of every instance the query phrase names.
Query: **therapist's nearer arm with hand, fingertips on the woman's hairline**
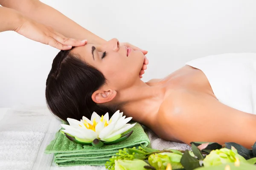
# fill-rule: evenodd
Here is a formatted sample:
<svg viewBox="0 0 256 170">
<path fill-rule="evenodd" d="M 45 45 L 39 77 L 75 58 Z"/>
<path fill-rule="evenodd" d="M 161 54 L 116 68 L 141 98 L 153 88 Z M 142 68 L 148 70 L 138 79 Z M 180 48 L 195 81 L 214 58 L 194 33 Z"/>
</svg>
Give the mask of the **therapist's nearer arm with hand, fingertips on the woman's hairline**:
<svg viewBox="0 0 256 170">
<path fill-rule="evenodd" d="M 4 16 L 0 17 L 0 32 L 15 31 L 31 40 L 49 44 L 60 50 L 68 50 L 71 45 L 81 46 L 86 43 L 64 37 L 52 28 L 36 23 L 11 8 L 0 7 L 0 16 Z"/>
</svg>

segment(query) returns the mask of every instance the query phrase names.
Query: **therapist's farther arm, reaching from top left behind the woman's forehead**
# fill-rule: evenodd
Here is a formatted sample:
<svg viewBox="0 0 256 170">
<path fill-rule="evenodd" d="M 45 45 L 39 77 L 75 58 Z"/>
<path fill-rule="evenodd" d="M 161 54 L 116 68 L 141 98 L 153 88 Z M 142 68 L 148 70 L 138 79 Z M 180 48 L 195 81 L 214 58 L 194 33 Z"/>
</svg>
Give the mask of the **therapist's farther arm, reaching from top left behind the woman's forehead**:
<svg viewBox="0 0 256 170">
<path fill-rule="evenodd" d="M 102 44 L 102 38 L 79 26 L 56 9 L 47 6 L 39 0 L 0 0 L 2 6 L 13 8 L 25 16 L 52 27 L 55 31 L 78 40 L 87 39 L 88 43 Z"/>
</svg>

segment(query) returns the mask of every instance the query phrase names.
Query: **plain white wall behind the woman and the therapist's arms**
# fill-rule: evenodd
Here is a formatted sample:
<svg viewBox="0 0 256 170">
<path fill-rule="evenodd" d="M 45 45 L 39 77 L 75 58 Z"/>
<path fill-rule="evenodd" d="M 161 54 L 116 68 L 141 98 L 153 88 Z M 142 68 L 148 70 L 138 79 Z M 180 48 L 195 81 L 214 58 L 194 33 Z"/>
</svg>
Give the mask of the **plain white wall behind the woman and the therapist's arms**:
<svg viewBox="0 0 256 170">
<path fill-rule="evenodd" d="M 254 0 L 42 0 L 84 28 L 148 50 L 144 81 L 190 59 L 256 52 Z M 0 16 L 1 17 L 1 16 Z M 0 107 L 44 105 L 58 50 L 15 32 L 0 33 Z"/>
</svg>

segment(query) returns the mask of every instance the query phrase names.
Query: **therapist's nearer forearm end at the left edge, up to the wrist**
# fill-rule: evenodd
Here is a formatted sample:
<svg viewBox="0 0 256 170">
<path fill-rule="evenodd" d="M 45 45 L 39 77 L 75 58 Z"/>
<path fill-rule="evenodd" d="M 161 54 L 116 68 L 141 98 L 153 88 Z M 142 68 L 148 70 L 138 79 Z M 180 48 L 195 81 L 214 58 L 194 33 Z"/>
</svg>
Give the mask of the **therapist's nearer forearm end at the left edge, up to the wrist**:
<svg viewBox="0 0 256 170">
<path fill-rule="evenodd" d="M 14 9 L 0 7 L 0 32 L 14 31 L 21 23 L 22 15 Z"/>
</svg>

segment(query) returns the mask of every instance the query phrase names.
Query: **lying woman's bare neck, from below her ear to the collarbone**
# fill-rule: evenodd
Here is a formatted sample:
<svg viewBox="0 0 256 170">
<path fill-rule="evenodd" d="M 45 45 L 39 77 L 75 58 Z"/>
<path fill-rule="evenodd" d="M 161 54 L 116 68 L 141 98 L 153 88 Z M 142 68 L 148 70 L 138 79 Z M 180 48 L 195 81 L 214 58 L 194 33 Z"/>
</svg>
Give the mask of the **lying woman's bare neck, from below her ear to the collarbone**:
<svg viewBox="0 0 256 170">
<path fill-rule="evenodd" d="M 147 127 L 154 125 L 157 113 L 163 102 L 165 88 L 160 83 L 147 84 L 139 81 L 131 88 L 118 92 L 116 101 L 122 105 L 126 116 Z"/>
</svg>

